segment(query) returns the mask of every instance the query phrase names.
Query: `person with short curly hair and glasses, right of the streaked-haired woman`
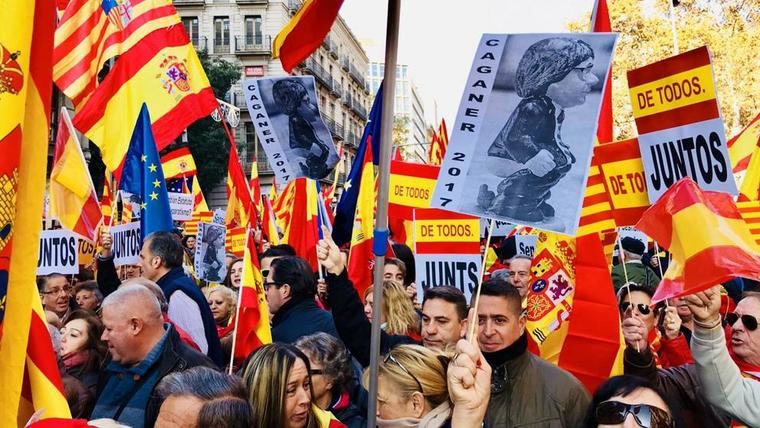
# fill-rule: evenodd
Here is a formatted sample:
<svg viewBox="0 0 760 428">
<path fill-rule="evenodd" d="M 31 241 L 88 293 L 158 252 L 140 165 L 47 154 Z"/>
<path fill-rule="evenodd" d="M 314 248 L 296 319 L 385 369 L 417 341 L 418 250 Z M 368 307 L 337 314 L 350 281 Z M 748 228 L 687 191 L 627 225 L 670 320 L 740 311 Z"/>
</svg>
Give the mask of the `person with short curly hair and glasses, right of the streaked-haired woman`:
<svg viewBox="0 0 760 428">
<path fill-rule="evenodd" d="M 317 333 L 298 339 L 295 346 L 309 359 L 314 404 L 329 410 L 348 428 L 366 427 L 365 415 L 351 402 L 354 371 L 343 343 L 329 334 Z"/>
</svg>

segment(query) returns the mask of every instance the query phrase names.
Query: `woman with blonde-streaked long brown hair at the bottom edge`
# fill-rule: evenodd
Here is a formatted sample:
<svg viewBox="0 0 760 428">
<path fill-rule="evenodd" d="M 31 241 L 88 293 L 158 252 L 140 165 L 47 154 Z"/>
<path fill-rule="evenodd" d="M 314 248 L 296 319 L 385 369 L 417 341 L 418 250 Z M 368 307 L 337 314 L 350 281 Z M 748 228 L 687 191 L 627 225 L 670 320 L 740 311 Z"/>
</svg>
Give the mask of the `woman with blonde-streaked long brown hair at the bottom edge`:
<svg viewBox="0 0 760 428">
<path fill-rule="evenodd" d="M 272 343 L 254 351 L 242 369 L 251 426 L 328 428 L 317 420 L 309 370 L 309 359 L 293 345 Z"/>
</svg>

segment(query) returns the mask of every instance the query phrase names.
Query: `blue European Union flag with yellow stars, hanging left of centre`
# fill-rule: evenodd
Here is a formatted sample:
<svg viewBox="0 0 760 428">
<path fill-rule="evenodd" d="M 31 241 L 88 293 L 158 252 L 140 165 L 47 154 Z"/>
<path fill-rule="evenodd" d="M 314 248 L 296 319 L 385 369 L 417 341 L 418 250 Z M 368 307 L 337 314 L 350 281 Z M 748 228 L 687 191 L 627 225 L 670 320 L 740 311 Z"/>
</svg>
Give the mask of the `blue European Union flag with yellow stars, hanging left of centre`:
<svg viewBox="0 0 760 428">
<path fill-rule="evenodd" d="M 119 189 L 140 198 L 140 232 L 143 238 L 153 232 L 174 229 L 164 171 L 158 156 L 148 107 L 143 104 L 124 157 Z"/>
</svg>

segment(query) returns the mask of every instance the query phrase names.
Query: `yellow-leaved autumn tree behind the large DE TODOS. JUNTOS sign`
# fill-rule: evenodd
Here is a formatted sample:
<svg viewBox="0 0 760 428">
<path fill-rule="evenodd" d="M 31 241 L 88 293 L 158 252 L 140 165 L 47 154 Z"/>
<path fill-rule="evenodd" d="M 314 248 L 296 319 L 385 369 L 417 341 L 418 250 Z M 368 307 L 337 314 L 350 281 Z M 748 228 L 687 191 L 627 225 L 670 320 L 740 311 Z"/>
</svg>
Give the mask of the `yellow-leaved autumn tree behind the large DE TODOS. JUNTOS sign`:
<svg viewBox="0 0 760 428">
<path fill-rule="evenodd" d="M 612 30 L 620 33 L 612 72 L 615 139 L 636 136 L 626 72 L 674 55 L 669 19 L 670 0 L 608 0 Z M 760 16 L 748 0 L 681 0 L 675 8 L 678 49 L 686 52 L 707 45 L 727 137 L 760 113 Z M 588 17 L 569 25 L 586 32 Z"/>
</svg>

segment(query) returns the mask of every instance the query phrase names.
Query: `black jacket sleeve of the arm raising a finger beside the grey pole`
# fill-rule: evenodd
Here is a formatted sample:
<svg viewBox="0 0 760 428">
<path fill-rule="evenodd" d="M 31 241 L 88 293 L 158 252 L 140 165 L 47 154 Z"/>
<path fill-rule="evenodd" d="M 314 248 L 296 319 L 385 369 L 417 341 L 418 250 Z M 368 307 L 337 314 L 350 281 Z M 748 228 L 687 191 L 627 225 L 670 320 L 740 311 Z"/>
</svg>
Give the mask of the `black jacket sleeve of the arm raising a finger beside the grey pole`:
<svg viewBox="0 0 760 428">
<path fill-rule="evenodd" d="M 369 366 L 369 347 L 372 335 L 372 324 L 364 315 L 359 294 L 357 294 L 348 274 L 344 270 L 340 275 L 327 274 L 325 276 L 328 292 L 327 300 L 332 308 L 335 325 L 338 334 L 346 344 L 351 355 L 359 361 L 362 367 Z M 420 343 L 409 336 L 390 335 L 380 332 L 380 354 L 385 354 L 396 345 Z"/>
</svg>

